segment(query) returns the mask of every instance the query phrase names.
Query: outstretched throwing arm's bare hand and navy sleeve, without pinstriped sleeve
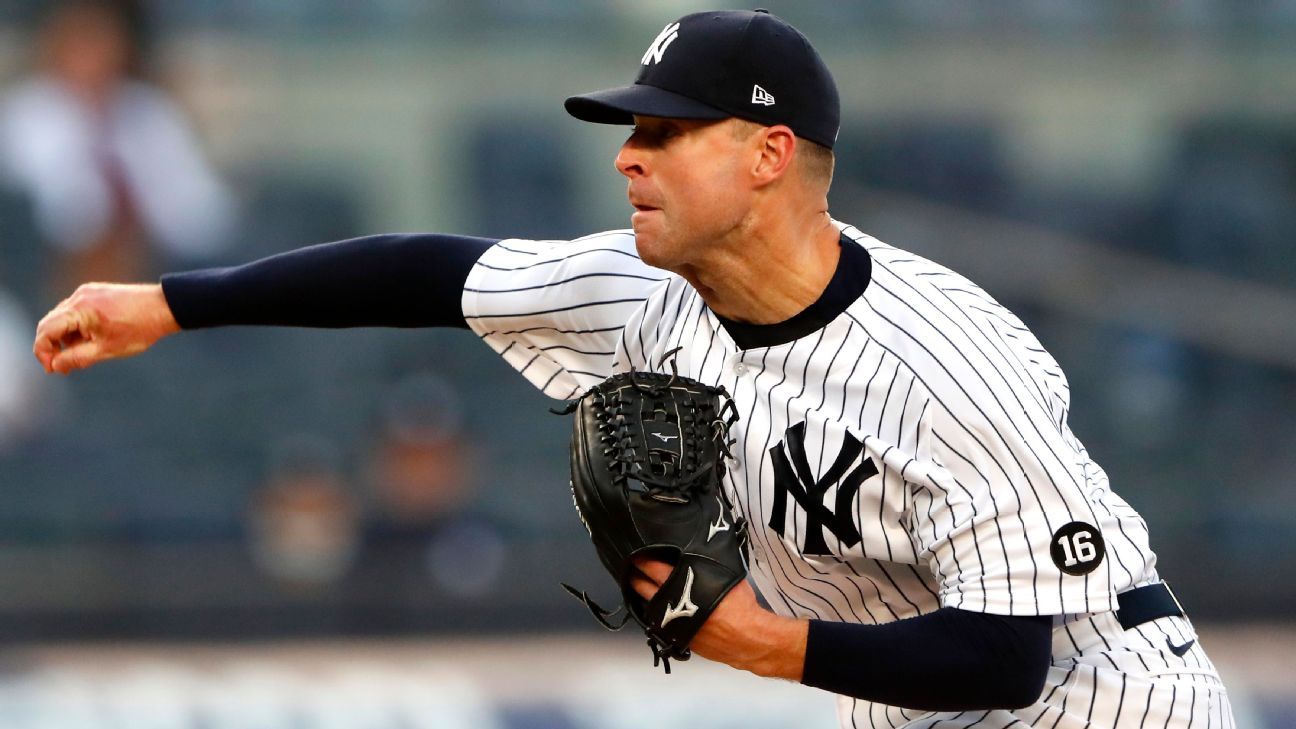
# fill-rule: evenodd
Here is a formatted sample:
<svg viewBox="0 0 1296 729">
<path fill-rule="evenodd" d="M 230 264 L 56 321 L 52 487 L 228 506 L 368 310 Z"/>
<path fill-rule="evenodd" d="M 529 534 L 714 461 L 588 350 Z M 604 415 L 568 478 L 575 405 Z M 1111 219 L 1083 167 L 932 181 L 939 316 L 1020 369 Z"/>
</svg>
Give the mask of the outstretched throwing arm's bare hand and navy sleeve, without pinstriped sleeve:
<svg viewBox="0 0 1296 729">
<path fill-rule="evenodd" d="M 36 327 L 32 352 L 67 374 L 139 354 L 181 329 L 231 324 L 460 327 L 460 297 L 496 241 L 380 235 L 301 248 L 242 266 L 170 274 L 161 284 L 79 287 Z"/>
</svg>

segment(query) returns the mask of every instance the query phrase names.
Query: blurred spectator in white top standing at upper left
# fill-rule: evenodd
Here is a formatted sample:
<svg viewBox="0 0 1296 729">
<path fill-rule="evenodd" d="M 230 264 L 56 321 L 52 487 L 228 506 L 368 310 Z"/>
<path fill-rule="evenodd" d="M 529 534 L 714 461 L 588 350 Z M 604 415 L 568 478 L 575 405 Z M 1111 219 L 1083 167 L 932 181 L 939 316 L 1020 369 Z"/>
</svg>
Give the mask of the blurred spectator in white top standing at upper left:
<svg viewBox="0 0 1296 729">
<path fill-rule="evenodd" d="M 84 280 L 152 278 L 154 254 L 210 257 L 232 223 L 229 193 L 179 109 L 139 77 L 139 18 L 124 3 L 57 4 L 35 73 L 0 105 L 0 176 L 35 205 L 61 258 L 58 296 Z"/>
</svg>

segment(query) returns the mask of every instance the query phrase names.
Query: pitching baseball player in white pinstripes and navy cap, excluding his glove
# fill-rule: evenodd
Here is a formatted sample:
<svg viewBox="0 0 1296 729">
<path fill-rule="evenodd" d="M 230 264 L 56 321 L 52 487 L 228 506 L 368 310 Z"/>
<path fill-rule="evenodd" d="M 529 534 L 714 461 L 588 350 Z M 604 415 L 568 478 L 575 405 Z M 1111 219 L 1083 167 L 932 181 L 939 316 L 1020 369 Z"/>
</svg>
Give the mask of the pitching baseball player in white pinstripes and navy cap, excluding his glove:
<svg viewBox="0 0 1296 729">
<path fill-rule="evenodd" d="M 69 372 L 210 326 L 459 326 L 555 398 L 670 355 L 737 406 L 723 488 L 770 606 L 739 585 L 695 652 L 829 690 L 851 728 L 1234 725 L 1058 363 L 976 284 L 829 217 L 837 91 L 798 31 L 686 16 L 632 84 L 566 109 L 634 126 L 632 230 L 372 236 L 88 284 L 35 354 Z M 671 569 L 640 568 L 644 597 Z"/>
</svg>

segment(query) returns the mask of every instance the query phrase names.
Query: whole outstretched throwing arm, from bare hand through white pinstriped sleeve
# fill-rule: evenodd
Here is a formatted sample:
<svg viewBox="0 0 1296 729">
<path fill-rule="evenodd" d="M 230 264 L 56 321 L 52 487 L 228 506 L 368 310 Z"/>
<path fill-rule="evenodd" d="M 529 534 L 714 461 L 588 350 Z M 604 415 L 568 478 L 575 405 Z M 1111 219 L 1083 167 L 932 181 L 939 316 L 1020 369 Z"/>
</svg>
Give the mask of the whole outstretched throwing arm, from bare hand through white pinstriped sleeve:
<svg viewBox="0 0 1296 729">
<path fill-rule="evenodd" d="M 552 397 L 605 377 L 617 335 L 665 271 L 629 231 L 574 241 L 378 235 L 161 285 L 84 284 L 52 310 L 34 352 L 67 374 L 220 326 L 472 328 Z"/>
</svg>

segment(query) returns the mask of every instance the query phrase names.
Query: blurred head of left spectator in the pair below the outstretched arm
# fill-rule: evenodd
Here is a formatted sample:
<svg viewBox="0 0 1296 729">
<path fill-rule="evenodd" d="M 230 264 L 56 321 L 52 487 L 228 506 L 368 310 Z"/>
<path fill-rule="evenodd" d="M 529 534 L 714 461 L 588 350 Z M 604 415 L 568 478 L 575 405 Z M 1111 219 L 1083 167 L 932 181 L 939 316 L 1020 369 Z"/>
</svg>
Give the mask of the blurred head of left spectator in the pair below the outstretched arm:
<svg viewBox="0 0 1296 729">
<path fill-rule="evenodd" d="M 350 568 L 359 511 L 328 444 L 293 437 L 277 446 L 270 477 L 251 503 L 251 551 L 288 585 L 321 586 Z"/>
</svg>

